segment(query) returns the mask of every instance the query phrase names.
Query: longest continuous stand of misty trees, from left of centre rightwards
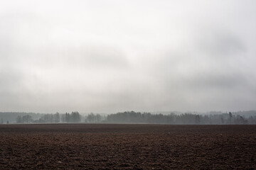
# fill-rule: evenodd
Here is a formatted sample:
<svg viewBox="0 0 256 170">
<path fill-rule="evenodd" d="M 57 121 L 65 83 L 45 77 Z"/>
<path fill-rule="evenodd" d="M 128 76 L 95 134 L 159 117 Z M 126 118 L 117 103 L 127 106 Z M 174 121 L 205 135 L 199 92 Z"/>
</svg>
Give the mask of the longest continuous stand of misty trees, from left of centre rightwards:
<svg viewBox="0 0 256 170">
<path fill-rule="evenodd" d="M 167 115 L 140 113 L 127 111 L 107 115 L 105 123 L 160 123 L 171 125 L 246 125 L 256 124 L 256 116 L 244 118 L 241 115 L 232 113 L 222 113 L 219 115 L 199 115 L 193 113 Z"/>
</svg>

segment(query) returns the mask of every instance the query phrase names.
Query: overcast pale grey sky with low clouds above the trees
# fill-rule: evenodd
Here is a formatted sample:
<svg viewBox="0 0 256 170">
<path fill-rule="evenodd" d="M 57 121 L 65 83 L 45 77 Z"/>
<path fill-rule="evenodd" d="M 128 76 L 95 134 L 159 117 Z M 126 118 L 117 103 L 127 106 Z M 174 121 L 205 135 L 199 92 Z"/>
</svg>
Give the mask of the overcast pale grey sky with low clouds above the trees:
<svg viewBox="0 0 256 170">
<path fill-rule="evenodd" d="M 0 2 L 0 111 L 256 109 L 256 1 Z"/>
</svg>

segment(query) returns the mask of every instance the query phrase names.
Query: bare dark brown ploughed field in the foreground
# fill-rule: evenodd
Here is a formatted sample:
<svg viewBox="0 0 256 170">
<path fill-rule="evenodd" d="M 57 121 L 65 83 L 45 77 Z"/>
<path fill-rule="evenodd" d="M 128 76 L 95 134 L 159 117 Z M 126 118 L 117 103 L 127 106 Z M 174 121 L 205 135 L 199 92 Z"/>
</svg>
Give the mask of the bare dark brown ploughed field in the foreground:
<svg viewBox="0 0 256 170">
<path fill-rule="evenodd" d="M 0 125 L 0 169 L 256 169 L 256 126 Z"/>
</svg>

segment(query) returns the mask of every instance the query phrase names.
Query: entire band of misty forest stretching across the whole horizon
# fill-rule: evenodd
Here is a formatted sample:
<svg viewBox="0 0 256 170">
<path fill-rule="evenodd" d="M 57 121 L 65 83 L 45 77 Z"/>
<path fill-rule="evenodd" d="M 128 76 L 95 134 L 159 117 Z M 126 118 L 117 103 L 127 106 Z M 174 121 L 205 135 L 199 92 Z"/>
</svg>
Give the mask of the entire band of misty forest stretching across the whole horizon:
<svg viewBox="0 0 256 170">
<path fill-rule="evenodd" d="M 90 113 L 0 113 L 8 123 L 152 123 L 171 125 L 256 125 L 256 111 L 198 113 L 140 113 L 126 111 L 109 115 Z"/>
</svg>

